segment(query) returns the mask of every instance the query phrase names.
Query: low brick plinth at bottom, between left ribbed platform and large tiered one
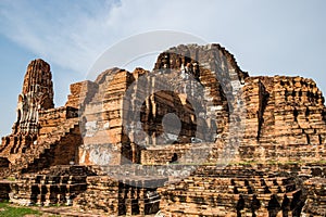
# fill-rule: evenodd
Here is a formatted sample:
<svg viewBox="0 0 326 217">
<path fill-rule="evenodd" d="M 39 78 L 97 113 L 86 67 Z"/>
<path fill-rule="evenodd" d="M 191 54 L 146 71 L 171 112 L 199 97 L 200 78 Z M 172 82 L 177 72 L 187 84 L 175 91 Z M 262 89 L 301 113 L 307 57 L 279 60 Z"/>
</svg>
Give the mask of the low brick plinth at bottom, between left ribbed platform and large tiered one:
<svg viewBox="0 0 326 217">
<path fill-rule="evenodd" d="M 121 180 L 108 176 L 88 177 L 87 190 L 75 200 L 75 205 L 84 210 L 114 215 L 155 214 L 160 196 L 155 188 L 147 188 L 149 181 L 148 178 L 133 179 L 133 176 Z"/>
</svg>

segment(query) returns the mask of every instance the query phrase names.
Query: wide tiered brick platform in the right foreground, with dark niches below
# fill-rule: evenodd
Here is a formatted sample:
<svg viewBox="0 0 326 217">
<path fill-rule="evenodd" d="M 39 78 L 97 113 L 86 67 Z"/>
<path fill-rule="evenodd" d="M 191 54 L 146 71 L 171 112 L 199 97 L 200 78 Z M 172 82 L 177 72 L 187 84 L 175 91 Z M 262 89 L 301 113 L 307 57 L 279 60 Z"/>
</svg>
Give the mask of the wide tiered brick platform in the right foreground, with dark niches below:
<svg viewBox="0 0 326 217">
<path fill-rule="evenodd" d="M 173 216 L 297 216 L 303 205 L 293 178 L 237 166 L 196 173 L 160 191 L 161 208 Z"/>
</svg>

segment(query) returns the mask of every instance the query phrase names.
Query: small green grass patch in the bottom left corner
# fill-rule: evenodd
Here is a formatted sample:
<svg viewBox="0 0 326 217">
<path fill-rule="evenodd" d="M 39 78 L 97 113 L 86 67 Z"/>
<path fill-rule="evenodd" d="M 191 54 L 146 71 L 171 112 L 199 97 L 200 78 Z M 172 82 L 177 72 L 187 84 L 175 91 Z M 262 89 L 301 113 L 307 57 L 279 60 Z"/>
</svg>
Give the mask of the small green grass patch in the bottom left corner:
<svg viewBox="0 0 326 217">
<path fill-rule="evenodd" d="M 28 207 L 14 207 L 8 202 L 0 203 L 0 217 L 23 217 L 25 215 L 40 216 L 41 213 Z"/>
</svg>

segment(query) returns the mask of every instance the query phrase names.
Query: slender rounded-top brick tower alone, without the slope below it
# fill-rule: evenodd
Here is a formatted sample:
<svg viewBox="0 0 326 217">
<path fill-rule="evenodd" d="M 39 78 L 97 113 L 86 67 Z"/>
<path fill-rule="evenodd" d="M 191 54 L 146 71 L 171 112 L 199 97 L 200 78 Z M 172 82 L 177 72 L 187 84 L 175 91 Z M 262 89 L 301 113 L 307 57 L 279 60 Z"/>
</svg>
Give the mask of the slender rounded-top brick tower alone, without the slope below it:
<svg viewBox="0 0 326 217">
<path fill-rule="evenodd" d="M 13 135 L 38 132 L 38 111 L 53 108 L 53 84 L 50 65 L 43 60 L 34 60 L 27 66 L 23 91 L 18 95 L 17 120 Z"/>
</svg>

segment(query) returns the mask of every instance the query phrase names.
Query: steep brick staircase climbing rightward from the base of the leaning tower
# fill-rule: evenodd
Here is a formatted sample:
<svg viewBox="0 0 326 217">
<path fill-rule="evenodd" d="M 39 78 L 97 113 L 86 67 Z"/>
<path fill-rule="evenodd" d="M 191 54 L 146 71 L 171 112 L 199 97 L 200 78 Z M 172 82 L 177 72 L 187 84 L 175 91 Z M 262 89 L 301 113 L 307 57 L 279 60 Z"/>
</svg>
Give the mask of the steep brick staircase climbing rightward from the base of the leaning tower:
<svg viewBox="0 0 326 217">
<path fill-rule="evenodd" d="M 78 127 L 78 117 L 66 119 L 65 123 L 58 126 L 57 130 L 48 133 L 46 137 L 39 137 L 37 142 L 33 143 L 30 148 L 11 165 L 10 169 L 12 173 L 28 171 L 32 165 L 38 165 L 42 158 L 47 157 L 46 154 L 52 153 L 54 155 L 55 146 Z M 49 161 L 49 158 L 47 161 Z"/>
</svg>

